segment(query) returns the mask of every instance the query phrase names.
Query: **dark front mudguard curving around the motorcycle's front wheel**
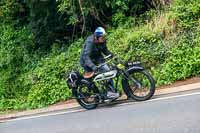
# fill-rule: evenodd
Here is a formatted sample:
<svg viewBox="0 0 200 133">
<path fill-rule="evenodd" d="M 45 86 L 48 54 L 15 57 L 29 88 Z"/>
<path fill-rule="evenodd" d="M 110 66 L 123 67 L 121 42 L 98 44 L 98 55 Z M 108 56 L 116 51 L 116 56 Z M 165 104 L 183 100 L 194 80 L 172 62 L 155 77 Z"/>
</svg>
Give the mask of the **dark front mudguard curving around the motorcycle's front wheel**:
<svg viewBox="0 0 200 133">
<path fill-rule="evenodd" d="M 126 70 L 125 73 L 126 73 L 126 76 L 129 76 L 129 74 L 132 72 L 143 71 L 143 70 L 144 70 L 144 68 L 142 66 L 132 66 L 128 70 Z M 130 89 L 129 89 L 127 77 L 123 77 L 122 87 L 123 87 L 123 90 L 124 90 L 125 94 L 127 95 L 127 97 L 130 97 L 130 92 L 129 92 Z"/>
</svg>

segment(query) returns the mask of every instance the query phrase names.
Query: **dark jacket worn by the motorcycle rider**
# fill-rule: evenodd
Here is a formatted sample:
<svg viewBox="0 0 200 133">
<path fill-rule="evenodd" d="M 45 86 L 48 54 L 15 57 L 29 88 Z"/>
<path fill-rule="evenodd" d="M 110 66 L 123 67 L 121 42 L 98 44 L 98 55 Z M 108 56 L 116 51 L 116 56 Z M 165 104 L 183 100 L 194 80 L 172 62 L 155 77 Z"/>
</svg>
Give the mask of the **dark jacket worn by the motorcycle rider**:
<svg viewBox="0 0 200 133">
<path fill-rule="evenodd" d="M 90 67 L 92 70 L 96 69 L 96 65 L 105 62 L 103 58 L 105 56 L 112 54 L 106 44 L 95 44 L 94 36 L 90 35 L 84 43 L 81 56 L 80 64 L 81 66 Z"/>
</svg>

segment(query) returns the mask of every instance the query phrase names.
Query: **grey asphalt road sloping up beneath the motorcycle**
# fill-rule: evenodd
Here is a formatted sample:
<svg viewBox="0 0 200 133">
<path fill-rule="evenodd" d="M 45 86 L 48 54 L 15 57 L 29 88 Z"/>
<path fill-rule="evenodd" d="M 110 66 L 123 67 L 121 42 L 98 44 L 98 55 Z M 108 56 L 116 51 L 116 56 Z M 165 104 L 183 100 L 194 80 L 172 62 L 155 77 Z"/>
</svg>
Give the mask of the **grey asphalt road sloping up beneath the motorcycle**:
<svg viewBox="0 0 200 133">
<path fill-rule="evenodd" d="M 0 123 L 0 133 L 200 133 L 200 91 Z"/>
</svg>

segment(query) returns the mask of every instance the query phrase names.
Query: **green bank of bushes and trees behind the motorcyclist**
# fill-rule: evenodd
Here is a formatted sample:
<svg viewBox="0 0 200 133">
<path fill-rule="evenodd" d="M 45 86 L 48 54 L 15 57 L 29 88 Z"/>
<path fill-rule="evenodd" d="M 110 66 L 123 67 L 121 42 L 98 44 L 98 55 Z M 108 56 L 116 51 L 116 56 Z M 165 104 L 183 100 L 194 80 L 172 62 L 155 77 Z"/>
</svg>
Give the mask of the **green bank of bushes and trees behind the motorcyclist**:
<svg viewBox="0 0 200 133">
<path fill-rule="evenodd" d="M 1 0 L 0 111 L 70 99 L 65 74 L 82 71 L 82 44 L 97 26 L 157 87 L 200 76 L 199 0 Z"/>
</svg>

